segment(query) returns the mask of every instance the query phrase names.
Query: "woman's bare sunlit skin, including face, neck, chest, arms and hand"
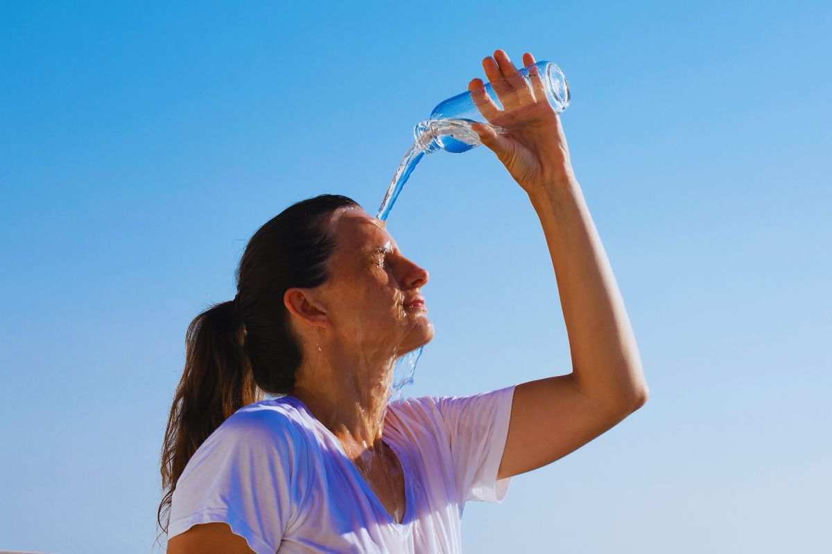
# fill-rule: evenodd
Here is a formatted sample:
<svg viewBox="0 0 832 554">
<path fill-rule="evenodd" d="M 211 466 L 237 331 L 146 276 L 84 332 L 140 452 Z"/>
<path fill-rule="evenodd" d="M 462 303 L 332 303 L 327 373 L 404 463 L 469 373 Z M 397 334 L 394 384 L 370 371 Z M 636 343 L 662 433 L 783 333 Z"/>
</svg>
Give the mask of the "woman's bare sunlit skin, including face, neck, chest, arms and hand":
<svg viewBox="0 0 832 554">
<path fill-rule="evenodd" d="M 535 63 L 530 53 L 522 61 Z M 502 50 L 483 60 L 483 70 L 503 110 L 488 98 L 483 81 L 473 79 L 468 90 L 485 119 L 508 132 L 473 129 L 527 193 L 540 219 L 572 355 L 572 373 L 515 389 L 498 470 L 498 478 L 508 478 L 587 444 L 641 407 L 648 392 L 612 267 L 539 76 L 522 79 Z M 428 272 L 395 249 L 383 271 L 364 262 L 364 248 L 395 243 L 384 224 L 363 210 L 336 213 L 332 224 L 338 240 L 332 281 L 290 289 L 285 296 L 305 352 L 313 354 L 300 370 L 297 395 L 339 438 L 389 512 L 400 514 L 404 481 L 398 459 L 382 440 L 382 423 L 395 357 L 433 336 L 425 312 L 403 313 L 401 306 L 428 282 Z M 211 533 L 210 541 L 203 533 Z M 219 547 L 216 541 L 225 542 Z M 210 523 L 173 537 L 168 552 L 251 551 L 227 525 Z"/>
</svg>

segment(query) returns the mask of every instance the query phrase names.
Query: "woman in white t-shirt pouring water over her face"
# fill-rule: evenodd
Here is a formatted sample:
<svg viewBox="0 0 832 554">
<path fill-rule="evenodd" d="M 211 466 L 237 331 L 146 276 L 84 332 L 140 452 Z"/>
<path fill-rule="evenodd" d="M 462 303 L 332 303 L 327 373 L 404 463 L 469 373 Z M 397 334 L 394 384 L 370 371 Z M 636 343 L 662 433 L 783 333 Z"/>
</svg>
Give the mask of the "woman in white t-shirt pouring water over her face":
<svg viewBox="0 0 832 554">
<path fill-rule="evenodd" d="M 646 401 L 624 304 L 540 77 L 528 84 L 502 50 L 483 68 L 503 110 L 483 81 L 468 88 L 509 132 L 474 130 L 541 220 L 572 373 L 389 402 L 394 361 L 433 337 L 428 272 L 354 201 L 296 203 L 251 238 L 235 300 L 189 327 L 162 457 L 167 552 L 459 552 L 466 501 L 499 502 L 511 477 Z"/>
</svg>

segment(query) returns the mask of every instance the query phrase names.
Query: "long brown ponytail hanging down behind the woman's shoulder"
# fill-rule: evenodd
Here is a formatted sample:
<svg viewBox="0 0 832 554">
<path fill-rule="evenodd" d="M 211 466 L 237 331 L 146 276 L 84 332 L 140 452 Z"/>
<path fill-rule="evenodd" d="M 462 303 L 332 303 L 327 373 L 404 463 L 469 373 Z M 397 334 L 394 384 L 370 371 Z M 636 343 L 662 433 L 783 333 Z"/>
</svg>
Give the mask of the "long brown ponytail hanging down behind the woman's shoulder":
<svg viewBox="0 0 832 554">
<path fill-rule="evenodd" d="M 236 300 L 236 299 L 235 299 Z M 196 316 L 185 337 L 185 370 L 176 387 L 162 445 L 161 483 L 167 493 L 156 518 L 167 532 L 171 499 L 186 463 L 231 414 L 260 400 L 243 351 L 245 326 L 237 302 L 222 302 Z"/>
</svg>

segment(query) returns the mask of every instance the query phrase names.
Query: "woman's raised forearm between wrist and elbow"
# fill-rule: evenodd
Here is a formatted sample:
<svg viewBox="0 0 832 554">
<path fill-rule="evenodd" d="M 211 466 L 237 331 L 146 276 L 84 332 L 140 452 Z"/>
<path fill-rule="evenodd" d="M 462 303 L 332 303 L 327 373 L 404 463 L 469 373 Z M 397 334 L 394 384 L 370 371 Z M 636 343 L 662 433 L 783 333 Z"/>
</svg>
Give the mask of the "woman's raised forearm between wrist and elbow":
<svg viewBox="0 0 832 554">
<path fill-rule="evenodd" d="M 577 387 L 636 409 L 647 385 L 629 317 L 577 180 L 529 194 L 552 257 Z"/>
</svg>

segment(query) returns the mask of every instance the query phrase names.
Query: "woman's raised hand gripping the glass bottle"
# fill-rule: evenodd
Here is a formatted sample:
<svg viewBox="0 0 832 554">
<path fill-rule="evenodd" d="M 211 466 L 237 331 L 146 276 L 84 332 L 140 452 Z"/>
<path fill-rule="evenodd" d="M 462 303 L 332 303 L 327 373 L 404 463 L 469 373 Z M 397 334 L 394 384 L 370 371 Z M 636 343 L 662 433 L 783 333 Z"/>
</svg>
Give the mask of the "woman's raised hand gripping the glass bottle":
<svg viewBox="0 0 832 554">
<path fill-rule="evenodd" d="M 535 63 L 529 52 L 522 59 L 525 66 Z M 561 120 L 546 100 L 546 89 L 537 68 L 532 68 L 530 85 L 508 59 L 508 54 L 497 50 L 493 57 L 483 60 L 483 69 L 503 110 L 488 96 L 481 79 L 472 79 L 468 91 L 488 123 L 508 130 L 498 134 L 488 125 L 474 124 L 473 130 L 483 145 L 497 154 L 527 194 L 575 180 Z"/>
</svg>

